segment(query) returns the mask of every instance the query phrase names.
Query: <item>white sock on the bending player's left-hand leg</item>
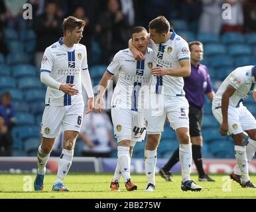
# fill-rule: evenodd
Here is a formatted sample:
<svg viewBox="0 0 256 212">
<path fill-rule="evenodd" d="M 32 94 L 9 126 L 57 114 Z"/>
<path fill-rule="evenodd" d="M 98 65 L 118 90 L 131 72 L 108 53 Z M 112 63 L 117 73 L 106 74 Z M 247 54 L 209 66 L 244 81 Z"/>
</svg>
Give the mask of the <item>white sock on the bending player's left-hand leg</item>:
<svg viewBox="0 0 256 212">
<path fill-rule="evenodd" d="M 241 171 L 242 182 L 247 182 L 250 180 L 248 174 L 248 163 L 245 152 L 245 146 L 237 146 L 235 145 L 235 158 L 237 159 L 237 164 Z"/>
</svg>

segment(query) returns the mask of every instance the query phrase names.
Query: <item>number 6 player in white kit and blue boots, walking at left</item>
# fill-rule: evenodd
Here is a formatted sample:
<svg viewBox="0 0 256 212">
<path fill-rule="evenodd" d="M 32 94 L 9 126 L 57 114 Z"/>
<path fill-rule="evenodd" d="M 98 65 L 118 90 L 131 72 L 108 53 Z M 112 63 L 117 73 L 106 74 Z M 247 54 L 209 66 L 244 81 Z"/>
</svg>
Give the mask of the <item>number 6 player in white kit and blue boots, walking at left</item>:
<svg viewBox="0 0 256 212">
<path fill-rule="evenodd" d="M 84 114 L 82 84 L 88 94 L 88 110 L 94 106 L 94 92 L 87 64 L 86 46 L 79 44 L 85 21 L 68 17 L 63 21 L 64 37 L 48 46 L 42 58 L 40 79 L 47 85 L 46 107 L 42 115 L 42 142 L 38 148 L 38 172 L 34 190 L 44 188 L 46 163 L 60 128 L 64 129 L 63 149 L 58 161 L 57 179 L 52 191 L 69 191 L 62 180 L 68 174 L 76 137 Z"/>
</svg>

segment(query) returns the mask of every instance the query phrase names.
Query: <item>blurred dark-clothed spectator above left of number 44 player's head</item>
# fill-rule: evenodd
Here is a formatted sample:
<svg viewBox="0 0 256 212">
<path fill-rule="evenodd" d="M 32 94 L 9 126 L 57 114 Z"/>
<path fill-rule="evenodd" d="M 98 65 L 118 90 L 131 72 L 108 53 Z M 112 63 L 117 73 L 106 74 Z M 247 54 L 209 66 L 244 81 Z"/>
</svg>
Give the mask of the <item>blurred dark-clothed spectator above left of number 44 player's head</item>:
<svg viewBox="0 0 256 212">
<path fill-rule="evenodd" d="M 99 15 L 96 32 L 98 32 L 99 45 L 102 49 L 101 64 L 109 64 L 113 54 L 127 48 L 129 24 L 117 0 L 107 2 L 107 10 Z"/>
</svg>

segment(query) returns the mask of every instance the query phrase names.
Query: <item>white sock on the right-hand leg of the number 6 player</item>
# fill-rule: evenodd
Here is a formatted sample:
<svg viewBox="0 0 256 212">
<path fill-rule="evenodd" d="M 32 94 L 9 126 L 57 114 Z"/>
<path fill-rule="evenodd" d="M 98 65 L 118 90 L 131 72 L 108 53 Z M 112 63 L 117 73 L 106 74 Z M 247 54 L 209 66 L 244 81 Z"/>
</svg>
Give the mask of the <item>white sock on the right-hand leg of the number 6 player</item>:
<svg viewBox="0 0 256 212">
<path fill-rule="evenodd" d="M 74 150 L 65 150 L 62 149 L 62 153 L 60 154 L 60 158 L 58 160 L 58 172 L 56 182 L 62 182 L 66 175 L 68 174 L 68 170 L 70 170 L 70 166 L 72 164 L 74 156 Z"/>
</svg>

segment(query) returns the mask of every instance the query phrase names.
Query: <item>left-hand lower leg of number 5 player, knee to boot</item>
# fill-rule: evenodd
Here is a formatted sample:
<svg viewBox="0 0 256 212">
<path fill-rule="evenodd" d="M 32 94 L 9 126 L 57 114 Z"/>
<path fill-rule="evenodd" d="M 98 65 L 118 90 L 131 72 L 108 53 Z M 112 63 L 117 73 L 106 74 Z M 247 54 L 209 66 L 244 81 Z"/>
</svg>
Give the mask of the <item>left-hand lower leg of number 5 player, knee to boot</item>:
<svg viewBox="0 0 256 212">
<path fill-rule="evenodd" d="M 145 191 L 155 191 L 155 169 L 157 164 L 157 146 L 159 146 L 161 134 L 148 134 L 145 146 L 145 172 L 148 185 Z"/>
</svg>

